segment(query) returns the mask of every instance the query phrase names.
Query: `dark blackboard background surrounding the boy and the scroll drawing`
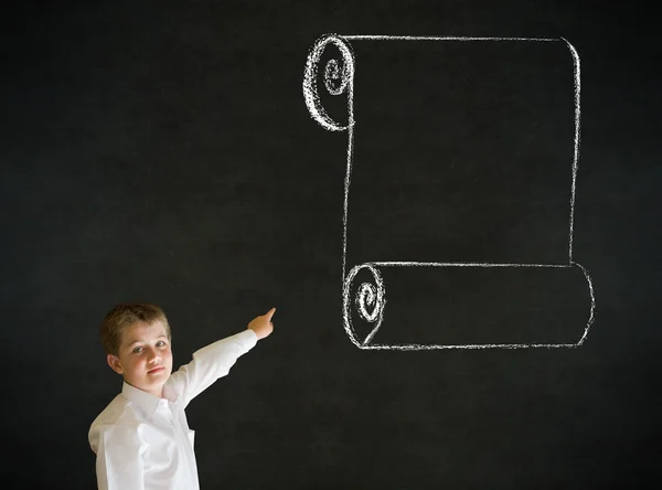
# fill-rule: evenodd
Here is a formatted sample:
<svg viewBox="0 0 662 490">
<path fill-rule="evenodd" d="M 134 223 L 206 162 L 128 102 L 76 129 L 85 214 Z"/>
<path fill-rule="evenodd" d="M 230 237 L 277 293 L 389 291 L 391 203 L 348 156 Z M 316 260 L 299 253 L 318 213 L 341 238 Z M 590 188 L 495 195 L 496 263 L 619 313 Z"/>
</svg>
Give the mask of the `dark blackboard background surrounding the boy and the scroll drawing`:
<svg viewBox="0 0 662 490">
<path fill-rule="evenodd" d="M 277 307 L 274 334 L 188 409 L 205 489 L 601 489 L 658 478 L 662 151 L 650 12 L 26 1 L 1 23 L 3 488 L 95 488 L 87 429 L 121 385 L 98 324 L 132 300 L 164 308 L 177 365 Z M 314 124 L 301 94 L 308 50 L 329 32 L 575 45 L 574 256 L 597 300 L 581 348 L 395 352 L 349 341 L 345 137 Z M 429 215 L 415 188 L 424 181 L 407 182 L 420 198 L 408 205 Z M 553 255 L 545 243 L 536 249 Z M 444 329 L 442 318 L 433 307 L 409 320 Z"/>
</svg>

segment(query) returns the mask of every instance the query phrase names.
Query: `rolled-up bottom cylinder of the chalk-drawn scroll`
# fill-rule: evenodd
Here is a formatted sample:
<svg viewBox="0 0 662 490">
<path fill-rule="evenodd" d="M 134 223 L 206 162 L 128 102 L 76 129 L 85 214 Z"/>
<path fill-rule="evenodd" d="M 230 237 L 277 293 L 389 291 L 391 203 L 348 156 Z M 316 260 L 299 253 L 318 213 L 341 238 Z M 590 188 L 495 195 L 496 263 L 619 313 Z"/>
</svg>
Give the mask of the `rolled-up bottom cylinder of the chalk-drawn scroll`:
<svg viewBox="0 0 662 490">
<path fill-rule="evenodd" d="M 577 347 L 595 309 L 578 264 L 366 263 L 346 275 L 343 298 L 362 349 Z"/>
</svg>

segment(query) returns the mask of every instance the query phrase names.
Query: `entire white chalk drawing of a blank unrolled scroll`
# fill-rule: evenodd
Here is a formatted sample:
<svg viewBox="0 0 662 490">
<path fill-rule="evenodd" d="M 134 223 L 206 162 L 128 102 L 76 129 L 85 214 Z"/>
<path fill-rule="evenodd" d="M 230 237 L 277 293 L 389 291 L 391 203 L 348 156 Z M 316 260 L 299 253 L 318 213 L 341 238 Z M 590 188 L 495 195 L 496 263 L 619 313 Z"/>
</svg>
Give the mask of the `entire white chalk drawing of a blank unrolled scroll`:
<svg viewBox="0 0 662 490">
<path fill-rule="evenodd" d="M 573 259 L 569 42 L 328 34 L 302 89 L 311 117 L 346 134 L 343 322 L 357 348 L 585 342 L 596 300 Z"/>
</svg>

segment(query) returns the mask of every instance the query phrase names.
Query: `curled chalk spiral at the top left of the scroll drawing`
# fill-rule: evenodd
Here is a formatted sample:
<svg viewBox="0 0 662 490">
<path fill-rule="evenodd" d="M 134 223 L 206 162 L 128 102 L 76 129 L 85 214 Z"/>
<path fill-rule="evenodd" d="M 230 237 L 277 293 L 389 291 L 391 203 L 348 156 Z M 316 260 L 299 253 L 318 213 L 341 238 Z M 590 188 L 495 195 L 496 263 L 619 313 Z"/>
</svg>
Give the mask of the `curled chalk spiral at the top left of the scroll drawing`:
<svg viewBox="0 0 662 490">
<path fill-rule="evenodd" d="M 340 51 L 342 60 L 331 58 L 324 66 L 324 87 L 331 95 L 348 95 L 346 125 L 331 118 L 322 106 L 318 93 L 318 65 L 322 53 L 329 44 Z M 303 99 L 312 118 L 324 129 L 330 131 L 344 131 L 354 124 L 352 115 L 352 90 L 354 79 L 354 54 L 350 45 L 340 36 L 329 34 L 320 38 L 310 49 L 303 72 Z"/>
</svg>

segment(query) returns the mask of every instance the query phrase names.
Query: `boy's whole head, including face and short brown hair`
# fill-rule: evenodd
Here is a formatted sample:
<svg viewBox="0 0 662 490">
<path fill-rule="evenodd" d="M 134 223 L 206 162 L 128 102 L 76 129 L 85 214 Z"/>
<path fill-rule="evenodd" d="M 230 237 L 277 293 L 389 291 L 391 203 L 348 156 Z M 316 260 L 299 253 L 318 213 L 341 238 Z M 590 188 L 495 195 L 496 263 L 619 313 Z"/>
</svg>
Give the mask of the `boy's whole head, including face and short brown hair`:
<svg viewBox="0 0 662 490">
<path fill-rule="evenodd" d="M 161 396 L 172 372 L 171 333 L 163 310 L 152 303 L 117 305 L 102 322 L 108 365 L 127 383 Z"/>
</svg>

